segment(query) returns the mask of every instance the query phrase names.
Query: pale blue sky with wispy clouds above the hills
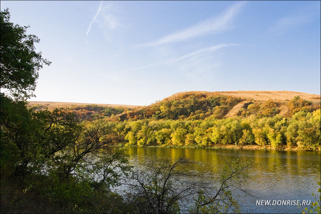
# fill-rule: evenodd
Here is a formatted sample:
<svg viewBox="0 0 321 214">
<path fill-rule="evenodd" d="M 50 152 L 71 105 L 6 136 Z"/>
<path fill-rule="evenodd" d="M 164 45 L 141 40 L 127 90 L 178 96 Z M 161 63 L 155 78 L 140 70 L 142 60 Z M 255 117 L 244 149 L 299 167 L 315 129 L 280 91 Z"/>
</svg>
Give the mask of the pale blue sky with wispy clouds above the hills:
<svg viewBox="0 0 321 214">
<path fill-rule="evenodd" d="M 30 26 L 30 101 L 149 105 L 182 91 L 321 94 L 320 1 L 1 1 Z"/>
</svg>

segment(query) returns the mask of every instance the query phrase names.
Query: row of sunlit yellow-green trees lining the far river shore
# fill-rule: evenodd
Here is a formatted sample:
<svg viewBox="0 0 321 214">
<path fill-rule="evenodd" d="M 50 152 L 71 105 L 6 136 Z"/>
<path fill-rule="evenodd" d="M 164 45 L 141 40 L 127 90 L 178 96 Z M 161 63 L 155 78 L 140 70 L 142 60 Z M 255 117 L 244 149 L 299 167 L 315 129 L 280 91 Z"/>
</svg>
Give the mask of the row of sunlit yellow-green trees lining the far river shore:
<svg viewBox="0 0 321 214">
<path fill-rule="evenodd" d="M 121 125 L 124 129 L 117 129 Z M 242 116 L 205 120 L 153 120 L 112 123 L 108 127 L 126 145 L 206 147 L 215 144 L 270 145 L 274 148 L 287 144 L 300 150 L 320 149 L 320 109 L 309 113 L 300 111 L 291 118 Z M 113 128 L 114 127 L 114 128 Z M 116 131 L 117 130 L 117 131 Z"/>
</svg>

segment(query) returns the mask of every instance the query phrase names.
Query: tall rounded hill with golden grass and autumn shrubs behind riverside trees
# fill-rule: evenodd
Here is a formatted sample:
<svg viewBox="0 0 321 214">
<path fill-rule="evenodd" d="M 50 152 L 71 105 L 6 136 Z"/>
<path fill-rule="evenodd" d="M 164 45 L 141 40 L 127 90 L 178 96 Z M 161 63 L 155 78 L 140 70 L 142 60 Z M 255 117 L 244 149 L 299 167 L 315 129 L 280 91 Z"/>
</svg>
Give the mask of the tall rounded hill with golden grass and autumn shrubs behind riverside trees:
<svg viewBox="0 0 321 214">
<path fill-rule="evenodd" d="M 300 100 L 296 101 L 299 103 L 293 104 L 291 100 L 295 97 L 300 97 Z M 298 109 L 294 110 L 295 108 Z M 301 108 L 311 112 L 320 108 L 320 95 L 296 91 L 186 91 L 173 94 L 149 106 L 123 112 L 109 118 L 108 121 L 147 118 L 219 119 L 250 114 L 281 114 L 289 117 Z"/>
</svg>

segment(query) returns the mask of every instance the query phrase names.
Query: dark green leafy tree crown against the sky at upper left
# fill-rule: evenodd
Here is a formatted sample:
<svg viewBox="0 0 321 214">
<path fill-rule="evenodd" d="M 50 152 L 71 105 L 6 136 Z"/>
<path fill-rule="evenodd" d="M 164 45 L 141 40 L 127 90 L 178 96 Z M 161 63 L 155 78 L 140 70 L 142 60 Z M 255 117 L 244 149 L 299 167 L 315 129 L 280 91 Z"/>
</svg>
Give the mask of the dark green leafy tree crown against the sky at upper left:
<svg viewBox="0 0 321 214">
<path fill-rule="evenodd" d="M 51 63 L 36 52 L 40 39 L 26 34 L 28 28 L 10 22 L 8 8 L 1 11 L 0 86 L 15 98 L 34 96 L 38 71 Z"/>
</svg>

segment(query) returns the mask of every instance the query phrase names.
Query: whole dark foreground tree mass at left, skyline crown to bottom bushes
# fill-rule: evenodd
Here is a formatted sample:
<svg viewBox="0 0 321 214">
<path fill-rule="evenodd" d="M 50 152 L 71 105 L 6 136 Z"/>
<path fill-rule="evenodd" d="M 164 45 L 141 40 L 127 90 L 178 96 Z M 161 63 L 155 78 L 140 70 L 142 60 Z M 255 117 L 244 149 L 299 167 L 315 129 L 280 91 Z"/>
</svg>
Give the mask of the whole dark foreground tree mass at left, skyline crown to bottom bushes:
<svg viewBox="0 0 321 214">
<path fill-rule="evenodd" d="M 130 167 L 124 149 L 111 148 L 118 139 L 107 134 L 105 124 L 81 122 L 69 109 L 28 107 L 38 71 L 50 62 L 35 51 L 39 39 L 27 35 L 27 28 L 10 22 L 8 9 L 1 11 L 1 189 L 5 181 L 13 186 L 6 192 L 16 194 L 5 203 L 1 191 L 1 212 L 4 206 L 19 212 L 17 207 L 32 202 L 27 192 L 64 212 L 120 212 L 122 198 L 110 186 Z M 23 201 L 14 207 L 19 192 Z"/>
</svg>

